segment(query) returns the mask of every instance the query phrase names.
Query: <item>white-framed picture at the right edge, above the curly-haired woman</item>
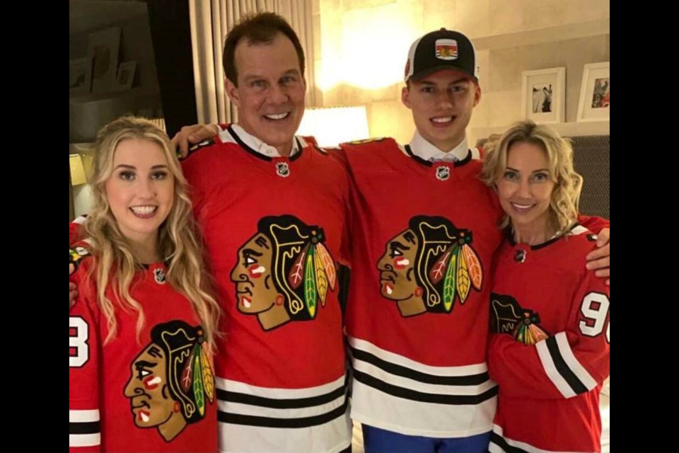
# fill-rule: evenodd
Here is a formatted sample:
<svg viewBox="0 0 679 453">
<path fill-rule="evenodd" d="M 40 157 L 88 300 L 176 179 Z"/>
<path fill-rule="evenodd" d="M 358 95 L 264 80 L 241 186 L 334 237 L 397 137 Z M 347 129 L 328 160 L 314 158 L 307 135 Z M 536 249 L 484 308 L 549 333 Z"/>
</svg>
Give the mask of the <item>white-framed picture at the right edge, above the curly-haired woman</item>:
<svg viewBox="0 0 679 453">
<path fill-rule="evenodd" d="M 610 121 L 610 62 L 585 64 L 578 121 Z"/>
</svg>

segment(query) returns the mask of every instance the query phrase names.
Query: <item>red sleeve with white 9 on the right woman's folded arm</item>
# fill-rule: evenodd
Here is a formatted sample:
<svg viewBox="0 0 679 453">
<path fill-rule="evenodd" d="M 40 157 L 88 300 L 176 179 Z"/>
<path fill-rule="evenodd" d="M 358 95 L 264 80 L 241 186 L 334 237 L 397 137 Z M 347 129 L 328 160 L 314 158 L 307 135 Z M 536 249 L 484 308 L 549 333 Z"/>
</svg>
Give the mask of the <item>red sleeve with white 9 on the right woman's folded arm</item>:
<svg viewBox="0 0 679 453">
<path fill-rule="evenodd" d="M 500 391 L 512 397 L 572 398 L 596 388 L 610 374 L 609 287 L 586 273 L 565 331 L 535 345 L 493 334 L 488 366 Z"/>
</svg>

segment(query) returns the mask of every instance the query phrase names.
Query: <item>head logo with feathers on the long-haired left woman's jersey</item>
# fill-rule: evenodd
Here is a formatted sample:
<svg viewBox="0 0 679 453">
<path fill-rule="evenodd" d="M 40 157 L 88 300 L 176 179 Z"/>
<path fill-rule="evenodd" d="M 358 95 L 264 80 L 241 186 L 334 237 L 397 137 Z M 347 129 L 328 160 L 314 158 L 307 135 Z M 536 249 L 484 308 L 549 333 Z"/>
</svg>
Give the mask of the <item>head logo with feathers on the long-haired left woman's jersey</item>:
<svg viewBox="0 0 679 453">
<path fill-rule="evenodd" d="M 214 374 L 200 326 L 158 324 L 132 362 L 124 389 L 137 428 L 157 428 L 166 442 L 205 416 L 214 400 Z"/>
</svg>

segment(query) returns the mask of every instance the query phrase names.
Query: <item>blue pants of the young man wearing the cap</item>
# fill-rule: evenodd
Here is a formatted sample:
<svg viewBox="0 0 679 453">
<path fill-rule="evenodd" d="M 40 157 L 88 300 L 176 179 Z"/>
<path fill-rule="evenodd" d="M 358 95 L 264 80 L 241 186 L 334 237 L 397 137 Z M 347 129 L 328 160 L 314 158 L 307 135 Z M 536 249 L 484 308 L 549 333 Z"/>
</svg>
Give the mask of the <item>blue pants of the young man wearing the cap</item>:
<svg viewBox="0 0 679 453">
<path fill-rule="evenodd" d="M 441 439 L 399 434 L 363 425 L 363 442 L 366 453 L 487 453 L 490 432 Z"/>
</svg>

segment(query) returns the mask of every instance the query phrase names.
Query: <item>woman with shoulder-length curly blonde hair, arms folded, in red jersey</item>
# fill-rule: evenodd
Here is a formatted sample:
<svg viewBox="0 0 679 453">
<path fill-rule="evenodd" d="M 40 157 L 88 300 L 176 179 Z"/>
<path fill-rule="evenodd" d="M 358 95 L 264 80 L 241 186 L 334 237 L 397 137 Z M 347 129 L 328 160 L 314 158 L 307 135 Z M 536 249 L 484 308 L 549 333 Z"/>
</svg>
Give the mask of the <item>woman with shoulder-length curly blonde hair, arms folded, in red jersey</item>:
<svg viewBox="0 0 679 453">
<path fill-rule="evenodd" d="M 491 296 L 489 372 L 500 387 L 491 452 L 600 452 L 610 294 L 585 270 L 596 236 L 576 223 L 569 142 L 518 122 L 488 147 L 483 178 L 506 214 Z"/>
</svg>

